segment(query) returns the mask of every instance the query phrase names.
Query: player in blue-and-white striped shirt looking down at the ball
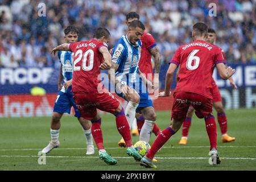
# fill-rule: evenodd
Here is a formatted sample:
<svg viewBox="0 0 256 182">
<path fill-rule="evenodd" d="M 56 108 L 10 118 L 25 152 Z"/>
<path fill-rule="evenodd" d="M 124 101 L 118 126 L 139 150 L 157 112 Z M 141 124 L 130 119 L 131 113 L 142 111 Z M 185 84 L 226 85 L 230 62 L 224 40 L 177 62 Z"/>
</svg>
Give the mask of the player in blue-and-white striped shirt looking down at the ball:
<svg viewBox="0 0 256 182">
<path fill-rule="evenodd" d="M 127 34 L 123 35 L 114 46 L 109 77 L 115 85 L 117 95 L 128 101 L 125 114 L 129 126 L 131 127 L 134 121 L 136 111 L 144 115 L 145 123 L 139 139 L 148 142 L 155 124 L 156 114 L 146 86 L 142 84 L 138 74 L 142 49 L 140 39 L 144 30 L 145 27 L 139 20 L 134 20 L 129 24 Z M 122 89 L 123 86 L 127 86 L 129 92 L 125 94 L 120 92 L 119 88 Z"/>
</svg>

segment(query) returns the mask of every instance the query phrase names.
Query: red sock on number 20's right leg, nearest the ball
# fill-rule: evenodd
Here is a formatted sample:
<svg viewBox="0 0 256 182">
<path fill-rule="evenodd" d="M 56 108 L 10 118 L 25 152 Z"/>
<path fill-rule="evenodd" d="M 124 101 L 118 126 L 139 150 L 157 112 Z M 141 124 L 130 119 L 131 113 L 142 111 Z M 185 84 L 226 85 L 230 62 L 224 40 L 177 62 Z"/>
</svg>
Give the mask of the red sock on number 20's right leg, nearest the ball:
<svg viewBox="0 0 256 182">
<path fill-rule="evenodd" d="M 123 108 L 120 113 L 115 115 L 115 123 L 117 124 L 119 134 L 121 134 L 123 139 L 125 140 L 126 146 L 132 146 L 133 141 L 131 140 L 131 131 L 128 121 L 125 117 L 125 111 L 123 110 Z"/>
</svg>

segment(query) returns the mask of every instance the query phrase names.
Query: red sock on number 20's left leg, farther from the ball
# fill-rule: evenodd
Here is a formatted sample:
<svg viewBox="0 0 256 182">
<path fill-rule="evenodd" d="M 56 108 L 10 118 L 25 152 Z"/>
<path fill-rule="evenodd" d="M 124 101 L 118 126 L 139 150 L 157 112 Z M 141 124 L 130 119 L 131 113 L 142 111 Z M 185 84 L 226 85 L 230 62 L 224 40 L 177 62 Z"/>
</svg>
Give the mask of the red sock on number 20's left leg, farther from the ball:
<svg viewBox="0 0 256 182">
<path fill-rule="evenodd" d="M 92 121 L 92 135 L 95 143 L 97 144 L 98 150 L 104 149 L 103 146 L 103 137 L 101 131 L 101 119 L 97 121 Z"/>
</svg>

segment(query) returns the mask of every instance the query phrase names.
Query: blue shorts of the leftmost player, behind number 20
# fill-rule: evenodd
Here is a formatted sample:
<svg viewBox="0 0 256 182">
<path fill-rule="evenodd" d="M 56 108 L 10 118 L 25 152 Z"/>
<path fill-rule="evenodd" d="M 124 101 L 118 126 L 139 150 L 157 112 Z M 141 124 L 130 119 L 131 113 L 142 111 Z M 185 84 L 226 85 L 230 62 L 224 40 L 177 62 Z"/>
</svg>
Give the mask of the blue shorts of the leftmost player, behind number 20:
<svg viewBox="0 0 256 182">
<path fill-rule="evenodd" d="M 75 110 L 75 117 L 80 118 L 81 114 L 79 113 L 79 110 L 76 108 L 76 103 L 73 100 L 73 95 L 60 91 L 59 95 L 57 95 L 53 112 L 70 114 L 72 106 Z"/>
</svg>

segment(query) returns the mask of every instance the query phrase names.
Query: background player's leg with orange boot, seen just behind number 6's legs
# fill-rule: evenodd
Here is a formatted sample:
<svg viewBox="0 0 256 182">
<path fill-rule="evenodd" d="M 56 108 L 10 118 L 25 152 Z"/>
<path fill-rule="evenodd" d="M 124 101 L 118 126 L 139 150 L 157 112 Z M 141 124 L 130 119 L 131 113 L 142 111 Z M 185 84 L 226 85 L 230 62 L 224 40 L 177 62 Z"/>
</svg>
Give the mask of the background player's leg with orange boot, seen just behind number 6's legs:
<svg viewBox="0 0 256 182">
<path fill-rule="evenodd" d="M 195 109 L 192 106 L 189 106 L 187 116 L 182 124 L 182 137 L 179 141 L 179 144 L 187 144 L 188 141 L 188 131 L 191 126 L 191 118 L 193 116 Z"/>
</svg>

